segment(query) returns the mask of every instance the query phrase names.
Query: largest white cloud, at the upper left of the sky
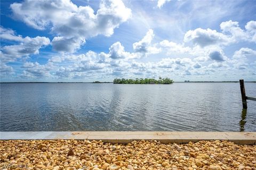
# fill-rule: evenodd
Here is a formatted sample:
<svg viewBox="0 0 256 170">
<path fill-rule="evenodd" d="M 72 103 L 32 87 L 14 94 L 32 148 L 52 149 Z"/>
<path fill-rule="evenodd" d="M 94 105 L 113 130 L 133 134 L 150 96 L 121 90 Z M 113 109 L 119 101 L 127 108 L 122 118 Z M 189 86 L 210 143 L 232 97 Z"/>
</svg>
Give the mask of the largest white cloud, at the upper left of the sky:
<svg viewBox="0 0 256 170">
<path fill-rule="evenodd" d="M 26 0 L 10 7 L 13 17 L 28 26 L 39 30 L 50 27 L 57 35 L 52 41 L 53 49 L 60 52 L 74 52 L 89 37 L 111 36 L 115 28 L 131 18 L 131 9 L 121 0 L 102 1 L 97 12 L 70 0 Z"/>
</svg>

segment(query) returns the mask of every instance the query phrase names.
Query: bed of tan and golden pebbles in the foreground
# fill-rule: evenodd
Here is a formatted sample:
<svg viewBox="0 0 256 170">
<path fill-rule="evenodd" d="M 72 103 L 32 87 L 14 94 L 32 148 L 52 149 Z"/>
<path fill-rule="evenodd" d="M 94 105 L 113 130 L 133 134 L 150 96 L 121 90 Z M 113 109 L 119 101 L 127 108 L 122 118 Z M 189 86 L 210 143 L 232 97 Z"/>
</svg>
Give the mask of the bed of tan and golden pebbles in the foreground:
<svg viewBox="0 0 256 170">
<path fill-rule="evenodd" d="M 0 169 L 256 169 L 256 145 L 228 141 L 111 144 L 87 140 L 0 141 Z"/>
</svg>

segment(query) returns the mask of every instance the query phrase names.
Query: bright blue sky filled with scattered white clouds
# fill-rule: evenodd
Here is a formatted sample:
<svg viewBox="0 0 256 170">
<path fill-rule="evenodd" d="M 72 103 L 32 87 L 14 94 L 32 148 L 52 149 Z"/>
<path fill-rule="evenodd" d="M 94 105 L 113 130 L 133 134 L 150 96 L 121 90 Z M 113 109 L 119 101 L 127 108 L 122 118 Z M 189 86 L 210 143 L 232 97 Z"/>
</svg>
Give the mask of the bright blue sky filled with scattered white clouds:
<svg viewBox="0 0 256 170">
<path fill-rule="evenodd" d="M 256 1 L 1 1 L 1 82 L 256 80 Z"/>
</svg>

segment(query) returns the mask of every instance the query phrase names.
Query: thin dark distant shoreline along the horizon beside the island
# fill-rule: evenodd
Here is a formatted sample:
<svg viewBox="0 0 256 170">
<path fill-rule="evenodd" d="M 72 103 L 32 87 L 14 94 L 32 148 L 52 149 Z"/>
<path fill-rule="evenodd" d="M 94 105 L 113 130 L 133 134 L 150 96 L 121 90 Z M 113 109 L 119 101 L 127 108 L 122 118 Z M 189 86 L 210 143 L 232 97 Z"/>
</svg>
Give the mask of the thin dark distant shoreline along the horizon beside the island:
<svg viewBox="0 0 256 170">
<path fill-rule="evenodd" d="M 104 84 L 104 83 L 114 83 L 114 82 L 0 82 L 0 83 L 92 83 L 92 84 Z M 197 81 L 197 82 L 173 82 L 173 83 L 239 83 L 239 81 L 223 81 L 223 82 L 211 82 L 211 81 Z M 245 83 L 256 83 L 256 81 L 249 81 Z"/>
</svg>

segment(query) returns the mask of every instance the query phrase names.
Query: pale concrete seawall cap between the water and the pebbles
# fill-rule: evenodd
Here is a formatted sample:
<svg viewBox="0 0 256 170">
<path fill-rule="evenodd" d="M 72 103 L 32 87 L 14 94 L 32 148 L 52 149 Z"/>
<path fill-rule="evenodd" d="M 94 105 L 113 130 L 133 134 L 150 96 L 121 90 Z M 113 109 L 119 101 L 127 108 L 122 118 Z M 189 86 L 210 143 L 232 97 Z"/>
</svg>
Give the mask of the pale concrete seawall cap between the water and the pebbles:
<svg viewBox="0 0 256 170">
<path fill-rule="evenodd" d="M 236 144 L 255 144 L 256 132 L 0 132 L 0 140 L 102 140 L 129 143 L 133 140 L 157 140 L 162 143 L 188 143 L 201 140 L 227 140 Z"/>
</svg>

